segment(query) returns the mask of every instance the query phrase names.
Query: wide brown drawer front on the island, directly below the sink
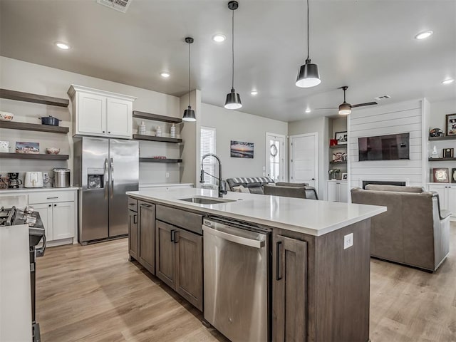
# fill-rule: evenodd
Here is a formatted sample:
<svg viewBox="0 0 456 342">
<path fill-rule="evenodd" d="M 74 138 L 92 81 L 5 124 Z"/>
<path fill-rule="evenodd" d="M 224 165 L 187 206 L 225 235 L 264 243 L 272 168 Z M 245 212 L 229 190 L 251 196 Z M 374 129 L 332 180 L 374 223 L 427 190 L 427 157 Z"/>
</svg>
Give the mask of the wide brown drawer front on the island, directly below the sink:
<svg viewBox="0 0 456 342">
<path fill-rule="evenodd" d="M 202 234 L 202 215 L 157 205 L 156 218 L 197 234 Z"/>
</svg>

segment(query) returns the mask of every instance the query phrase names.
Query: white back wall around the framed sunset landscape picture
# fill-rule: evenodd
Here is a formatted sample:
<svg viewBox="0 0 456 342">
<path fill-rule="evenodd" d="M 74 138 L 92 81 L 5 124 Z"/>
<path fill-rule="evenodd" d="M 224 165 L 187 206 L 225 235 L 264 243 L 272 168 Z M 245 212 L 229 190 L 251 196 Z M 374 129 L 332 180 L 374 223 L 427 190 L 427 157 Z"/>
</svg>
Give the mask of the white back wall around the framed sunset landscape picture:
<svg viewBox="0 0 456 342">
<path fill-rule="evenodd" d="M 216 128 L 217 155 L 222 161 L 222 177 L 259 177 L 266 167 L 266 132 L 287 135 L 288 123 L 261 116 L 227 110 L 202 103 L 201 125 Z M 199 135 L 199 133 L 198 133 Z M 229 155 L 230 140 L 254 143 L 254 158 L 234 158 Z M 287 146 L 287 142 L 285 144 Z M 286 147 L 286 150 L 288 148 Z M 287 152 L 285 153 L 287 155 Z M 288 175 L 288 162 L 285 173 Z"/>
</svg>

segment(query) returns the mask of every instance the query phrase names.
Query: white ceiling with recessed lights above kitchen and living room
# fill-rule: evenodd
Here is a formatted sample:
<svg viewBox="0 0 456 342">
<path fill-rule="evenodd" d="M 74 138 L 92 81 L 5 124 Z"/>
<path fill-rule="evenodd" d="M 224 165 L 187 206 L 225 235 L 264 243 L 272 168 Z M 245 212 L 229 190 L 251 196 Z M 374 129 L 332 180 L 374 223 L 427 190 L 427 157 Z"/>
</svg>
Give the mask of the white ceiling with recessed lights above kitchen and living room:
<svg viewBox="0 0 456 342">
<path fill-rule="evenodd" d="M 156 90 L 192 88 L 224 105 L 231 89 L 231 11 L 222 0 L 130 0 L 127 13 L 95 0 L 0 0 L 0 54 L 22 61 Z M 335 115 L 347 101 L 456 98 L 456 0 L 311 0 L 310 55 L 321 84 L 294 83 L 306 57 L 304 0 L 240 0 L 235 12 L 235 81 L 242 111 L 284 121 Z M 434 34 L 423 41 L 420 31 Z M 212 36 L 227 40 L 215 43 Z M 61 51 L 53 45 L 71 45 Z M 170 71 L 170 78 L 160 77 Z M 250 95 L 252 89 L 258 95 Z M 311 113 L 304 113 L 311 108 Z"/>
</svg>

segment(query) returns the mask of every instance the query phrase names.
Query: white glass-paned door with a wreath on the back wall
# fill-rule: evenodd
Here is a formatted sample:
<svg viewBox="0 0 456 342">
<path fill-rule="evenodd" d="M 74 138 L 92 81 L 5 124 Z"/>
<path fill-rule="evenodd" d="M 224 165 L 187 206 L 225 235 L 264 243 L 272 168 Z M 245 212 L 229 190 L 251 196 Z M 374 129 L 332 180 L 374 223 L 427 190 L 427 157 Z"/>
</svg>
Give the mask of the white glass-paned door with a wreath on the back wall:
<svg viewBox="0 0 456 342">
<path fill-rule="evenodd" d="M 285 180 L 285 137 L 266 133 L 266 175 L 274 182 Z"/>
</svg>

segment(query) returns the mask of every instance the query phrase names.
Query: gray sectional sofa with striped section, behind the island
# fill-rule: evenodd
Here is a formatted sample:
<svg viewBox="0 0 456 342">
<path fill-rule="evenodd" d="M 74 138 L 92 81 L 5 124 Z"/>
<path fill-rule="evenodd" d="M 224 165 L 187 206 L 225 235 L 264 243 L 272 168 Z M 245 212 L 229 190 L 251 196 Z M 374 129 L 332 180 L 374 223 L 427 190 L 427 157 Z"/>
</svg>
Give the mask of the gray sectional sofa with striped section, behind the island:
<svg viewBox="0 0 456 342">
<path fill-rule="evenodd" d="M 276 182 L 270 177 L 227 178 L 228 190 L 251 194 L 318 199 L 314 187 L 307 183 Z"/>
</svg>

